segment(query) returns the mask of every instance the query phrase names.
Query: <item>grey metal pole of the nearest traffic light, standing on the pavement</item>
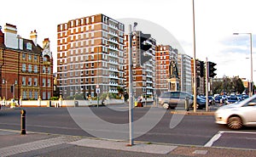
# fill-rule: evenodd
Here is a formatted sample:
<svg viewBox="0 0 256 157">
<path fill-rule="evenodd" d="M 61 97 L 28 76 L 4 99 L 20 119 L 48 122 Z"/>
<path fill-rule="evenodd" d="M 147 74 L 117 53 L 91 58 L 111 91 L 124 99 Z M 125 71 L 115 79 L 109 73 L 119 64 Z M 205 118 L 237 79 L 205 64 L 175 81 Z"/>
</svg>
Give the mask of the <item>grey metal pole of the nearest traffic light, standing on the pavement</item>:
<svg viewBox="0 0 256 157">
<path fill-rule="evenodd" d="M 131 25 L 129 25 L 129 132 L 130 132 L 130 146 L 133 145 L 133 83 L 132 83 L 132 32 Z"/>
</svg>

